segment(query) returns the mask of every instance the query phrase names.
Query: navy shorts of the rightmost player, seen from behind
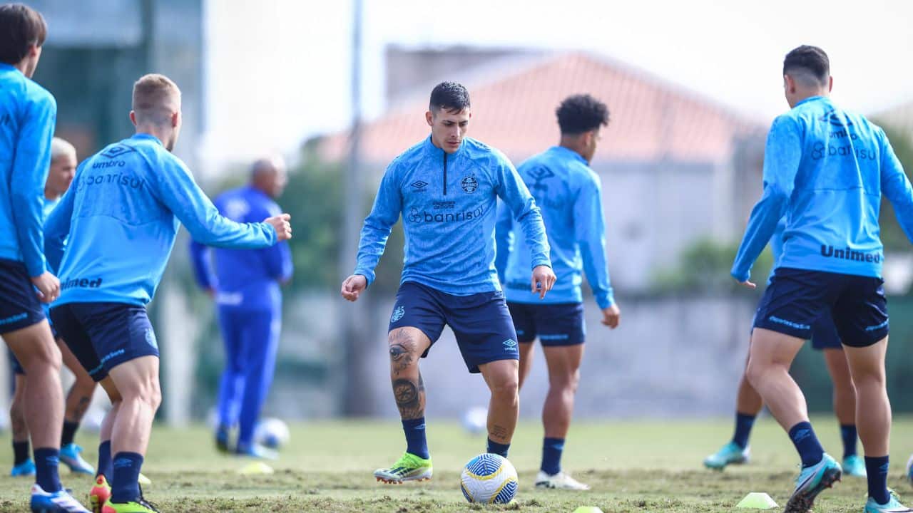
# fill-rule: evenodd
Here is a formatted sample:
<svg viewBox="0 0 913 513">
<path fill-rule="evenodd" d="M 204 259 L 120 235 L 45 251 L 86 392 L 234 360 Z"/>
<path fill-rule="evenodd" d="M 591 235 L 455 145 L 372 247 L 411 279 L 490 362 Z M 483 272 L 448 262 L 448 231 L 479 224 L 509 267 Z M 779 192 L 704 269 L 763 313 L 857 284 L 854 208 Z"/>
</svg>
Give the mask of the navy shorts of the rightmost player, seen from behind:
<svg viewBox="0 0 913 513">
<path fill-rule="evenodd" d="M 883 283 L 877 277 L 778 267 L 754 326 L 808 340 L 815 321 L 829 312 L 844 345 L 867 347 L 887 337 Z"/>
</svg>

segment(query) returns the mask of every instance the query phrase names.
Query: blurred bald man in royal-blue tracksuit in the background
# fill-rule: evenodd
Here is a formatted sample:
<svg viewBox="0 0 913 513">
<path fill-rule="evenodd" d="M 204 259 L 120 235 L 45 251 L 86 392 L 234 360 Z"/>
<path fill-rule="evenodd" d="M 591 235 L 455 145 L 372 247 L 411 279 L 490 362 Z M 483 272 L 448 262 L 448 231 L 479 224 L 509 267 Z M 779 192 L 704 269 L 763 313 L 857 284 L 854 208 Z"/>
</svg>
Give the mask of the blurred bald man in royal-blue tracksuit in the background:
<svg viewBox="0 0 913 513">
<path fill-rule="evenodd" d="M 274 201 L 288 182 L 281 157 L 254 162 L 250 183 L 215 198 L 219 213 L 239 223 L 255 222 L 281 210 Z M 254 443 L 254 427 L 276 367 L 282 291 L 291 279 L 289 245 L 266 249 L 216 249 L 190 245 L 196 282 L 215 298 L 225 341 L 226 368 L 219 384 L 219 425 L 215 445 L 228 451 L 229 430 L 238 425 L 239 455 L 276 457 Z M 212 255 L 212 254 L 215 255 Z M 212 257 L 215 257 L 215 270 Z"/>
</svg>

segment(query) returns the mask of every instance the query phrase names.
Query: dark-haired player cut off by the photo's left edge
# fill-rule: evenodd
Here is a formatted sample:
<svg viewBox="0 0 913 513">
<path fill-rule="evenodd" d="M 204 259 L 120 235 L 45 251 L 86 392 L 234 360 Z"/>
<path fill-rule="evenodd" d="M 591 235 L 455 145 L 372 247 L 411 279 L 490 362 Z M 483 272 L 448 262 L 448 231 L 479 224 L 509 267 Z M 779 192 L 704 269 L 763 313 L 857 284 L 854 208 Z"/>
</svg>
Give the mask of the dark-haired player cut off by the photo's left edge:
<svg viewBox="0 0 913 513">
<path fill-rule="evenodd" d="M 86 511 L 60 486 L 63 390 L 60 351 L 41 303 L 60 282 L 42 249 L 41 197 L 50 163 L 57 102 L 31 80 L 47 25 L 21 4 L 0 5 L 0 335 L 26 372 L 26 424 L 35 445 L 33 511 Z"/>
</svg>

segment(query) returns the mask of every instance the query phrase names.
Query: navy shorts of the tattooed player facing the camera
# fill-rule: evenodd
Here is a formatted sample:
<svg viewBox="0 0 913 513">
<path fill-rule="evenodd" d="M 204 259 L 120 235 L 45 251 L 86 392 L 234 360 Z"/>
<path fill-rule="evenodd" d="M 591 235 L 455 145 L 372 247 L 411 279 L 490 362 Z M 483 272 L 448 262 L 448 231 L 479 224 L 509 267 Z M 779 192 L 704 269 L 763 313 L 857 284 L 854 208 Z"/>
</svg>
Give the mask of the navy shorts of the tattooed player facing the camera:
<svg viewBox="0 0 913 513">
<path fill-rule="evenodd" d="M 469 372 L 491 361 L 519 360 L 517 333 L 500 290 L 453 296 L 414 281 L 400 286 L 388 331 L 417 328 L 434 345 L 445 324 L 454 330 Z"/>
</svg>

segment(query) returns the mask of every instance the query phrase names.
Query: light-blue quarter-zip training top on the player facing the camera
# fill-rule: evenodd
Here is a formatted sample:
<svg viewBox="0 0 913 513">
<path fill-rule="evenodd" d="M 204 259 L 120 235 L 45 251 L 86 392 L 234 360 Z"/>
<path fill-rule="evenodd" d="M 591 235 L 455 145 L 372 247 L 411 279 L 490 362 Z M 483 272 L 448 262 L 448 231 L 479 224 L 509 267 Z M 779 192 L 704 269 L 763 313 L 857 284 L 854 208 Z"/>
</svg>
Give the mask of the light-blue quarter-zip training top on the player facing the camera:
<svg viewBox="0 0 913 513">
<path fill-rule="evenodd" d="M 402 282 L 456 296 L 500 290 L 494 263 L 498 197 L 522 227 L 530 266 L 551 266 L 539 207 L 507 157 L 468 137 L 447 154 L 428 137 L 383 174 L 364 220 L 354 274 L 373 282 L 390 229 L 402 215 Z"/>
</svg>

